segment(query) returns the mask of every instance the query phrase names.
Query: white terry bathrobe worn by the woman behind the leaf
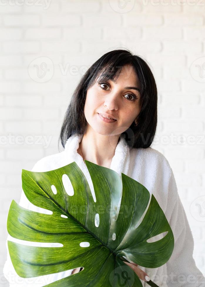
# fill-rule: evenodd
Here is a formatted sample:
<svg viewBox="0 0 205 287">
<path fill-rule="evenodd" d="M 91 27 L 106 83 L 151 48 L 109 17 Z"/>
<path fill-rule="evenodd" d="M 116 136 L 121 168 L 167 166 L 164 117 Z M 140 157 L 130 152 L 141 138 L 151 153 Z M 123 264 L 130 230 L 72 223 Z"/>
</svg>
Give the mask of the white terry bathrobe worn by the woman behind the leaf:
<svg viewBox="0 0 205 287">
<path fill-rule="evenodd" d="M 83 158 L 77 153 L 82 134 L 70 136 L 65 144 L 65 150 L 39 160 L 32 171 L 45 172 L 68 165 L 75 161 L 83 171 L 93 193 L 93 184 L 88 169 Z M 120 136 L 115 154 L 112 158 L 110 169 L 115 170 L 121 177 L 121 172 L 132 177 L 134 180 L 144 185 L 150 195 L 153 194 L 162 208 L 169 225 L 174 234 L 174 250 L 169 261 L 158 268 L 144 268 L 150 279 L 158 286 L 164 287 L 202 287 L 205 286 L 205 278 L 196 267 L 193 259 L 194 241 L 186 218 L 184 208 L 177 192 L 177 186 L 172 169 L 167 159 L 153 148 L 131 148 L 127 145 L 125 139 Z M 151 196 L 150 196 L 151 198 Z M 23 190 L 19 205 L 38 212 L 44 212 L 43 209 L 34 206 L 26 198 Z M 45 212 L 44 212 L 45 213 Z M 138 225 L 141 223 L 141 218 Z M 163 235 L 159 235 L 158 240 Z M 8 235 L 7 240 L 21 242 Z M 42 246 L 40 243 L 38 246 Z M 44 286 L 66 276 L 69 276 L 73 269 L 44 275 L 33 278 L 21 278 L 18 276 L 11 263 L 7 248 L 7 261 L 4 265 L 4 276 L 9 281 L 10 286 L 37 287 Z M 74 266 L 73 268 L 77 268 Z M 142 281 L 143 287 L 148 286 Z"/>
</svg>

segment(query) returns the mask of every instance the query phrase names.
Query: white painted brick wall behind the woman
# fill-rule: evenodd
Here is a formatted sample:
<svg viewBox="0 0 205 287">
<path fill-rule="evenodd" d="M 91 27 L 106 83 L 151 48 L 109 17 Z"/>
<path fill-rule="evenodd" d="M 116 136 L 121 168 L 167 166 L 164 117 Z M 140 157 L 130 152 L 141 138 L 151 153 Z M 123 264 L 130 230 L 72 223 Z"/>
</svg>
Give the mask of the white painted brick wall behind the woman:
<svg viewBox="0 0 205 287">
<path fill-rule="evenodd" d="M 174 171 L 194 236 L 194 258 L 205 275 L 205 221 L 190 210 L 205 190 L 205 1 L 184 2 L 131 0 L 122 9 L 113 0 L 1 1 L 0 132 L 6 144 L 0 150 L 0 270 L 8 209 L 12 199 L 20 199 L 21 170 L 58 152 L 61 122 L 79 79 L 102 54 L 125 47 L 147 59 L 154 73 L 159 101 L 153 148 Z M 42 83 L 28 73 L 39 57 L 53 63 L 53 74 Z M 1 275 L 0 284 L 7 286 L 4 282 Z"/>
</svg>

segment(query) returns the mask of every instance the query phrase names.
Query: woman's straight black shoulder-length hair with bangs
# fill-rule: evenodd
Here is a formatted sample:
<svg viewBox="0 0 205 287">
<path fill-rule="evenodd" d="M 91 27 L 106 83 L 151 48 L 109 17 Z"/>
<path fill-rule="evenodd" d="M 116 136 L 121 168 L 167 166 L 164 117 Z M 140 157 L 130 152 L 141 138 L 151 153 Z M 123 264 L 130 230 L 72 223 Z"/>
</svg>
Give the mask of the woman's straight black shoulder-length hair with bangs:
<svg viewBox="0 0 205 287">
<path fill-rule="evenodd" d="M 87 121 L 84 115 L 86 93 L 96 78 L 113 79 L 119 75 L 125 65 L 132 65 L 137 74 L 140 90 L 141 111 L 138 125 L 133 122 L 120 136 L 124 136 L 128 145 L 134 148 L 148 148 L 154 139 L 157 128 L 157 86 L 147 62 L 127 49 L 117 49 L 100 57 L 81 78 L 65 113 L 59 141 L 63 148 L 73 134 L 83 134 Z M 58 141 L 58 144 L 59 144 Z"/>
</svg>

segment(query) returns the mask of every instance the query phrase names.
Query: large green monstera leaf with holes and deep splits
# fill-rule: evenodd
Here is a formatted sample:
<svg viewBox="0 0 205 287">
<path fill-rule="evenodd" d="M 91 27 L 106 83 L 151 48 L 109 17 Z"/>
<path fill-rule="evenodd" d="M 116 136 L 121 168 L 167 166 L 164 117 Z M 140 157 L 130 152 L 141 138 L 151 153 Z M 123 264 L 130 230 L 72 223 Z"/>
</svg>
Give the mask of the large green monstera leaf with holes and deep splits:
<svg viewBox="0 0 205 287">
<path fill-rule="evenodd" d="M 174 249 L 169 223 L 153 194 L 149 203 L 149 191 L 142 184 L 123 173 L 121 180 L 114 170 L 88 160 L 85 164 L 95 201 L 75 162 L 48 172 L 22 170 L 22 187 L 28 200 L 52 214 L 30 211 L 13 200 L 7 220 L 9 234 L 32 242 L 56 242 L 61 247 L 8 241 L 12 264 L 23 278 L 83 267 L 79 273 L 46 286 L 141 287 L 140 278 L 123 260 L 126 257 L 147 268 L 165 264 Z M 66 186 L 68 181 L 72 189 Z M 167 234 L 149 242 L 161 233 Z"/>
</svg>

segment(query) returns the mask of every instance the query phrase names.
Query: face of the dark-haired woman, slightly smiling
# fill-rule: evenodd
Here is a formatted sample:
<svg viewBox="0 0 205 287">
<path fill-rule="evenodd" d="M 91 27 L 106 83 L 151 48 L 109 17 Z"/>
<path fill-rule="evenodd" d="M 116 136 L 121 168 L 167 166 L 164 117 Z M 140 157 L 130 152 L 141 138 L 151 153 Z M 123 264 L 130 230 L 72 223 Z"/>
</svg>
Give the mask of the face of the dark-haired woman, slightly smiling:
<svg viewBox="0 0 205 287">
<path fill-rule="evenodd" d="M 140 92 L 137 75 L 131 65 L 122 67 L 116 82 L 95 80 L 87 90 L 84 113 L 87 125 L 103 135 L 126 131 L 140 113 Z M 99 113 L 110 115 L 114 122 L 105 122 Z M 90 128 L 89 126 L 87 128 Z"/>
</svg>

